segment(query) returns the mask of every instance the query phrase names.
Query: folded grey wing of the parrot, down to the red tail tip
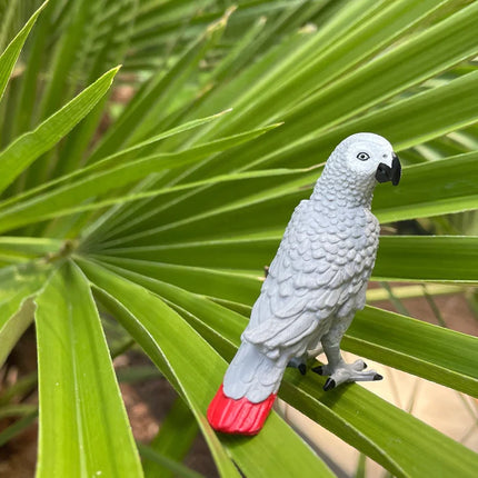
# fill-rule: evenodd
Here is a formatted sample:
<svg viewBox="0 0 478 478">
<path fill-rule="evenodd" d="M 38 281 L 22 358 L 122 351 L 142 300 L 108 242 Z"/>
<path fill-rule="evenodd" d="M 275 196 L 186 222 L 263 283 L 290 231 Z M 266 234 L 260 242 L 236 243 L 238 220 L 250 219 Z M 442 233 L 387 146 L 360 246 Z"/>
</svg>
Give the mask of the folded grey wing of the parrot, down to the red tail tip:
<svg viewBox="0 0 478 478">
<path fill-rule="evenodd" d="M 318 341 L 337 309 L 359 292 L 361 281 L 353 278 L 360 267 L 335 263 L 340 240 L 330 225 L 310 220 L 309 205 L 302 201 L 292 215 L 226 374 L 225 392 L 232 398 L 261 401 L 276 394 L 290 358 Z"/>
</svg>

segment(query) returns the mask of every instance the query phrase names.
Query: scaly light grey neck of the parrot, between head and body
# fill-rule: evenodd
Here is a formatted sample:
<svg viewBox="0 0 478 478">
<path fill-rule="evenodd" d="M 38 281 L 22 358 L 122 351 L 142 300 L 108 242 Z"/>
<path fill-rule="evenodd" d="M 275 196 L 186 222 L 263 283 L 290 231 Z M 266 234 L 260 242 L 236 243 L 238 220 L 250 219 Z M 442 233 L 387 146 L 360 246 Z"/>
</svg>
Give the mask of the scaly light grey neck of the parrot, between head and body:
<svg viewBox="0 0 478 478">
<path fill-rule="evenodd" d="M 375 178 L 350 178 L 347 171 L 339 168 L 326 168 L 313 188 L 311 200 L 319 201 L 321 206 L 330 205 L 332 208 L 370 209 L 376 186 Z"/>
</svg>

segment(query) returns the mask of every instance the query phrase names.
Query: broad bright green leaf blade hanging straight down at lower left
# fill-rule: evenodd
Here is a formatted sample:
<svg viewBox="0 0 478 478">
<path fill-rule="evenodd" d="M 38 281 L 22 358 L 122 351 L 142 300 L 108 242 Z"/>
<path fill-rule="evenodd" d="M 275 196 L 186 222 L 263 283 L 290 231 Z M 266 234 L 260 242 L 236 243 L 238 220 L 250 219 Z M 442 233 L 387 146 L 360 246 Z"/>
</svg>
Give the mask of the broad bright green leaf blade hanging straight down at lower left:
<svg viewBox="0 0 478 478">
<path fill-rule="evenodd" d="M 40 391 L 37 476 L 142 476 L 84 276 L 77 266 L 66 263 L 36 302 Z"/>
</svg>

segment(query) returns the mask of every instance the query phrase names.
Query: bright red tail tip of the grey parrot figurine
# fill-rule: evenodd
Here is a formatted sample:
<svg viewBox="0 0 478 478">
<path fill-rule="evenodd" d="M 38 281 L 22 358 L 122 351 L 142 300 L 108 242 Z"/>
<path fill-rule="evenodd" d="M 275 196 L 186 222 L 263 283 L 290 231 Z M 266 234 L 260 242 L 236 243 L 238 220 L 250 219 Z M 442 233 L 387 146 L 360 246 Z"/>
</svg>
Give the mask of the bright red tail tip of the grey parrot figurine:
<svg viewBox="0 0 478 478">
<path fill-rule="evenodd" d="M 221 385 L 208 408 L 209 424 L 225 434 L 256 435 L 263 427 L 276 396 L 271 394 L 259 404 L 252 404 L 246 397 L 235 400 L 225 395 Z"/>
</svg>

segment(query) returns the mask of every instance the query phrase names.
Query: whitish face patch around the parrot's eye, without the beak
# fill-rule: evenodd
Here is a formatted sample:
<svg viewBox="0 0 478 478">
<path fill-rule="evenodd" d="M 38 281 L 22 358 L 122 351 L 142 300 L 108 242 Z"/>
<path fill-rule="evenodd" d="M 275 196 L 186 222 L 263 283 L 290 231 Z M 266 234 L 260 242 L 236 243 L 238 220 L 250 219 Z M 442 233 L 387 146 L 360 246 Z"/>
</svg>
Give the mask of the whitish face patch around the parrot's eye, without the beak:
<svg viewBox="0 0 478 478">
<path fill-rule="evenodd" d="M 394 149 L 385 138 L 372 133 L 353 135 L 346 151 L 347 169 L 375 177 L 380 162 L 391 167 L 392 153 Z"/>
</svg>

